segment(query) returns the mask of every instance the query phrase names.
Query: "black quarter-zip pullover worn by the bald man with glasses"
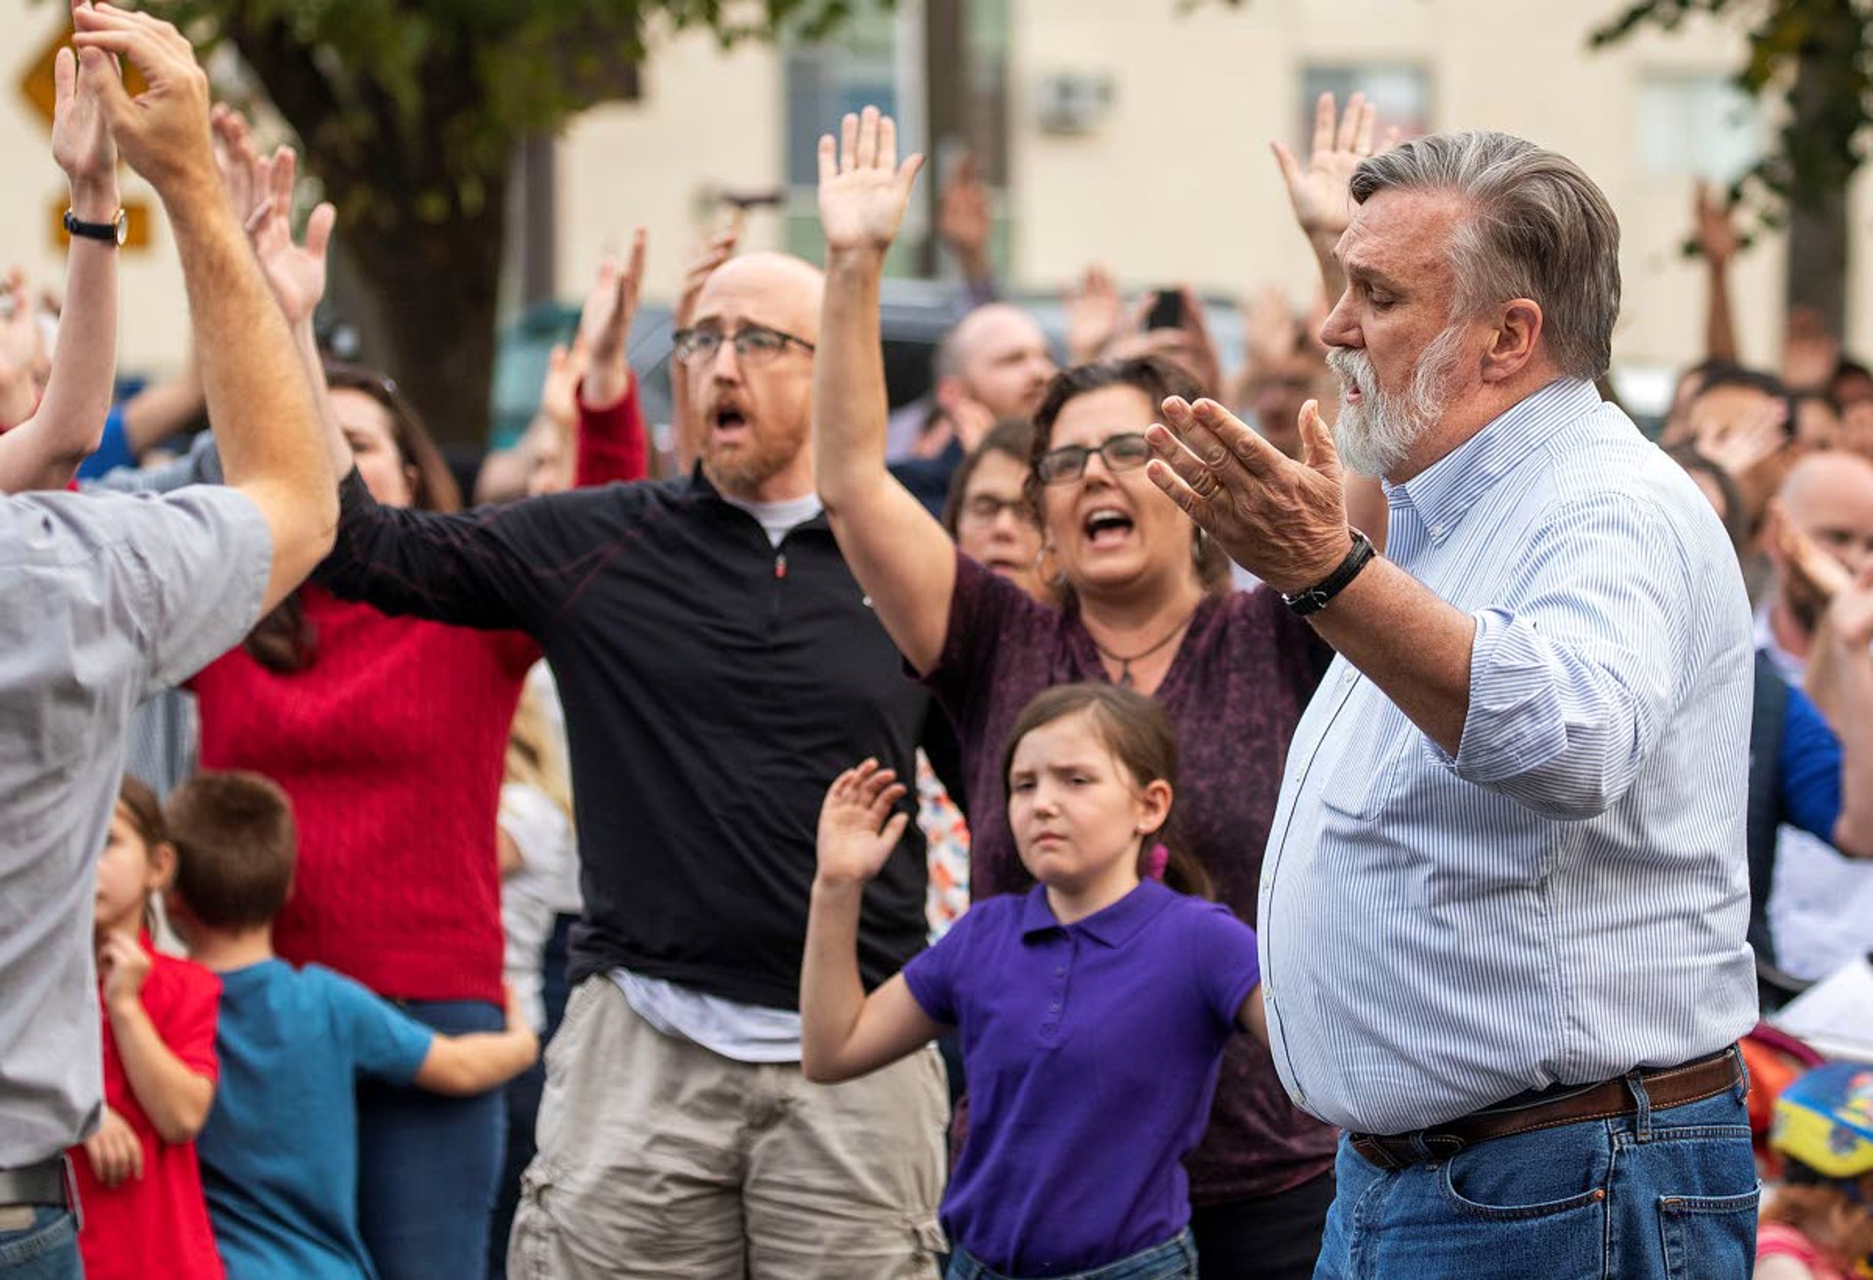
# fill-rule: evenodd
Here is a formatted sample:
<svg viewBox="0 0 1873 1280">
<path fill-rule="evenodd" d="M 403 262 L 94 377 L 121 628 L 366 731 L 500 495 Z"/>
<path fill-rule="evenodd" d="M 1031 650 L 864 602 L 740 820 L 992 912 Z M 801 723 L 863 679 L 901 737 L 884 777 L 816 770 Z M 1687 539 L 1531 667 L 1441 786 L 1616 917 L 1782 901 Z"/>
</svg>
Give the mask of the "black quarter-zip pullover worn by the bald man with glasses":
<svg viewBox="0 0 1873 1280">
<path fill-rule="evenodd" d="M 352 470 L 317 581 L 545 650 L 579 823 L 575 982 L 622 965 L 798 1006 L 826 787 L 867 755 L 912 783 L 929 707 L 824 515 L 775 547 L 701 470 L 459 513 L 378 506 Z M 867 988 L 923 946 L 923 856 L 908 823 L 865 890 Z"/>
</svg>

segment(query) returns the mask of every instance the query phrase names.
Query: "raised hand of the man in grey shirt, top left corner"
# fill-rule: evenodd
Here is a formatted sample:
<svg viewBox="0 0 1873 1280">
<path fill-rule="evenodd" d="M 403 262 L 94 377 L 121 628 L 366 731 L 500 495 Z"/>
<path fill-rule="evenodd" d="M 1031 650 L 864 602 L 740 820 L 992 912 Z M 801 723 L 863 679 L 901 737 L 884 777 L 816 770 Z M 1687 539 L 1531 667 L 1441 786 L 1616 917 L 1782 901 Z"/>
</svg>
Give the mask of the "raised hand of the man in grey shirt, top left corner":
<svg viewBox="0 0 1873 1280">
<path fill-rule="evenodd" d="M 189 41 L 169 22 L 112 4 L 73 4 L 71 43 L 116 54 L 135 66 L 144 92 L 135 97 L 116 75 L 96 75 L 97 103 L 118 152 L 167 201 L 215 182 L 208 141 L 208 75 L 195 64 Z M 86 71 L 94 66 L 86 62 Z"/>
</svg>

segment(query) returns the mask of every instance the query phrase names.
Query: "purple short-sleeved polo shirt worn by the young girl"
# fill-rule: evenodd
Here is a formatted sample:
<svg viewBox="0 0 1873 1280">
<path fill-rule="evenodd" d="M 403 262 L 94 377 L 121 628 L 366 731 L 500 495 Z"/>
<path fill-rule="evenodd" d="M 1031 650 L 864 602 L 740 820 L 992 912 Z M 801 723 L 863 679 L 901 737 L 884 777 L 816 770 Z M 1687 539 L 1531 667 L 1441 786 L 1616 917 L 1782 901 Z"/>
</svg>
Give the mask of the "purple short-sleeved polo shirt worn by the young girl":
<svg viewBox="0 0 1873 1280">
<path fill-rule="evenodd" d="M 970 907 L 905 982 L 963 1040 L 950 1239 L 996 1271 L 1056 1276 L 1189 1222 L 1182 1158 L 1261 982 L 1249 926 L 1156 881 L 1062 926 L 1036 886 Z"/>
</svg>

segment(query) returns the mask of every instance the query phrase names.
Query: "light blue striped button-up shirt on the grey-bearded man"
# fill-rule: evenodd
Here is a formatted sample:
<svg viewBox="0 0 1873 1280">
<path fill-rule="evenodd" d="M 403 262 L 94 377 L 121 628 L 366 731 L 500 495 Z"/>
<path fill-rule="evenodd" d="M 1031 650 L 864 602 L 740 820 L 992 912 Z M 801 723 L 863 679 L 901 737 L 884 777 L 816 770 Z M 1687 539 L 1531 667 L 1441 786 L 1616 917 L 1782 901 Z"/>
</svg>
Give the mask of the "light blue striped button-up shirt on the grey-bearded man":
<svg viewBox="0 0 1873 1280">
<path fill-rule="evenodd" d="M 1723 1048 L 1753 678 L 1710 504 L 1573 379 L 1388 497 L 1388 558 L 1476 618 L 1470 708 L 1452 759 L 1339 658 L 1294 733 L 1261 888 L 1289 1093 L 1401 1134 Z"/>
</svg>

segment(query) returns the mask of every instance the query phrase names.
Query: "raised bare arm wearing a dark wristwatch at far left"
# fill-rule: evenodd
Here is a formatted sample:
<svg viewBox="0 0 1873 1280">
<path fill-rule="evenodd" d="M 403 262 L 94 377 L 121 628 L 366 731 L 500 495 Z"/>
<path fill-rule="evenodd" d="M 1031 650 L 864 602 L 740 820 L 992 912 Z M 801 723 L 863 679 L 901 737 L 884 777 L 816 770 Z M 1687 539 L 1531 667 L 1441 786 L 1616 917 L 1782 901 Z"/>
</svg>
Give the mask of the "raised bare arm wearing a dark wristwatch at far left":
<svg viewBox="0 0 1873 1280">
<path fill-rule="evenodd" d="M 60 49 L 52 64 L 52 157 L 71 184 L 71 216 L 111 223 L 118 216 L 116 144 L 99 88 L 114 75 L 103 52 Z M 0 435 L 0 491 L 64 489 L 96 452 L 111 412 L 116 373 L 116 244 L 71 236 L 66 257 L 66 307 L 45 395 L 32 416 Z M 37 324 L 24 290 L 13 322 Z"/>
</svg>

